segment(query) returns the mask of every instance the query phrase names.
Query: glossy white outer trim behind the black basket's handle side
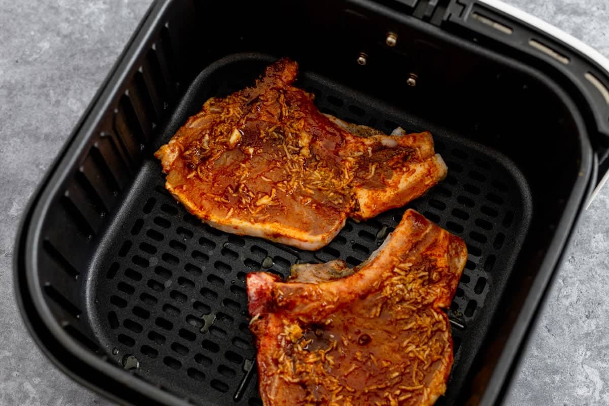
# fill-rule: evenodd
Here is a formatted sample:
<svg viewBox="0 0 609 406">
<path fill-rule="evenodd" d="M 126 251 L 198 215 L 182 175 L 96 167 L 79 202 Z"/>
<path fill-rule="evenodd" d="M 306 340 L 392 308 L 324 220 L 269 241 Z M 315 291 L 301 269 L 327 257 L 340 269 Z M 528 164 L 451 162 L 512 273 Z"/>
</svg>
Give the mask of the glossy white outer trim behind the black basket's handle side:
<svg viewBox="0 0 609 406">
<path fill-rule="evenodd" d="M 546 23 L 546 21 L 543 21 L 542 19 L 532 16 L 529 13 L 523 12 L 523 10 L 516 9 L 516 7 L 513 7 L 512 5 L 505 4 L 504 2 L 502 2 L 500 0 L 479 0 L 479 1 L 486 5 L 490 5 L 490 7 L 493 7 L 497 10 L 501 10 L 504 13 L 512 15 L 513 17 L 523 21 L 524 23 L 538 27 L 539 29 L 546 32 L 548 35 L 551 35 L 552 37 L 556 38 L 558 41 L 562 41 L 563 43 L 573 47 L 574 49 L 577 49 L 577 51 L 582 52 L 582 54 L 585 54 L 586 56 L 588 56 L 589 58 L 594 60 L 609 75 L 609 59 L 607 59 L 604 55 L 600 54 L 599 51 L 596 51 L 596 49 L 594 49 L 593 47 L 586 45 L 582 41 L 578 40 L 575 37 L 572 37 L 571 35 L 564 32 L 563 30 L 560 30 L 557 27 L 552 26 L 552 24 Z M 599 89 L 599 91 L 600 91 L 600 89 Z M 603 96 L 605 96 L 605 95 L 603 95 Z M 609 172 L 605 173 L 605 176 L 602 178 L 602 180 L 600 180 L 598 186 L 596 187 L 596 189 L 594 189 L 594 191 L 590 195 L 590 198 L 586 202 L 586 209 L 588 209 L 590 207 L 592 201 L 594 200 L 594 198 L 596 198 L 596 196 L 600 192 L 600 189 L 602 189 L 602 187 L 604 186 L 605 183 L 607 183 L 607 181 L 609 181 Z"/>
</svg>

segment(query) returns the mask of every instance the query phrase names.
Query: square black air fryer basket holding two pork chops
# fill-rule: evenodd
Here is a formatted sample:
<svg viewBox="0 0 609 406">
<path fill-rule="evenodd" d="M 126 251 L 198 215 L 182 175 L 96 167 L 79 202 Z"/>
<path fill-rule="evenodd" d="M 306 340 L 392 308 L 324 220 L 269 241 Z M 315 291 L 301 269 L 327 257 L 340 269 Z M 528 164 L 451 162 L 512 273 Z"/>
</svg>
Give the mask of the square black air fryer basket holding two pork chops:
<svg viewBox="0 0 609 406">
<path fill-rule="evenodd" d="M 152 153 L 208 97 L 288 55 L 320 110 L 434 134 L 448 177 L 407 207 L 469 251 L 447 310 L 455 363 L 438 404 L 495 401 L 505 387 L 523 314 L 538 306 L 605 151 L 590 89 L 539 55 L 471 40 L 474 3 L 336 2 L 323 13 L 314 3 L 151 7 L 33 197 L 16 247 L 24 320 L 75 379 L 133 404 L 259 405 L 246 273 L 357 265 L 400 221 L 404 208 L 350 220 L 327 247 L 301 251 L 202 225 L 165 191 Z"/>
</svg>

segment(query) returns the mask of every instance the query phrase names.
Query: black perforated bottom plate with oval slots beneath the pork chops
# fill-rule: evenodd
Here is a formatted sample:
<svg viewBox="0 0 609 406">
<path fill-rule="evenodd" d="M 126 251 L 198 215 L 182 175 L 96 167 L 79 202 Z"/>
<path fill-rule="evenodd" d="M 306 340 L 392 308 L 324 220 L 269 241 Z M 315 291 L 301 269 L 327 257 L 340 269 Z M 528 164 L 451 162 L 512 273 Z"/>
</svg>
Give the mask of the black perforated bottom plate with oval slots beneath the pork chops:
<svg viewBox="0 0 609 406">
<path fill-rule="evenodd" d="M 163 141 L 186 121 L 188 108 L 192 113 L 207 97 L 251 83 L 262 66 L 260 61 L 237 60 L 213 72 L 214 83 L 222 88 L 210 85 L 206 79 L 211 75 L 203 72 Z M 301 74 L 299 85 L 315 93 L 322 111 L 347 121 L 386 132 L 398 123 L 421 129 L 412 125 L 418 122 L 416 117 L 315 75 Z M 423 125 L 434 133 L 449 175 L 407 207 L 463 237 L 469 250 L 448 310 L 454 322 L 455 363 L 446 396 L 438 401 L 442 404 L 458 396 L 487 332 L 526 234 L 528 194 L 523 178 L 499 153 L 431 123 Z M 404 212 L 392 210 L 364 223 L 348 220 L 328 246 L 308 252 L 202 225 L 163 184 L 160 164 L 153 158 L 145 161 L 131 198 L 117 217 L 124 219 L 122 224 L 106 236 L 110 248 L 98 261 L 105 268 L 91 274 L 88 309 L 91 320 L 97 321 L 92 323 L 96 338 L 111 359 L 121 365 L 133 355 L 139 361 L 138 376 L 195 404 L 261 405 L 255 372 L 243 382 L 256 354 L 248 331 L 247 272 L 267 270 L 285 276 L 297 261 L 337 258 L 357 265 L 381 244 Z M 242 383 L 245 388 L 238 391 Z"/>
</svg>

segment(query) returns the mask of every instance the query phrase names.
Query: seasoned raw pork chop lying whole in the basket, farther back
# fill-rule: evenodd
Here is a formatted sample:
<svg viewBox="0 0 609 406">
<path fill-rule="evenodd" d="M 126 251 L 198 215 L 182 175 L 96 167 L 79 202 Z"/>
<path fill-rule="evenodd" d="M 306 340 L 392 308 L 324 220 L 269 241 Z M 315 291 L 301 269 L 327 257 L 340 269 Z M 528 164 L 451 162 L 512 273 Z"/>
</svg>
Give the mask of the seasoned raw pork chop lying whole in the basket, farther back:
<svg viewBox="0 0 609 406">
<path fill-rule="evenodd" d="M 212 97 L 155 154 L 167 189 L 203 222 L 315 250 L 348 216 L 403 206 L 445 177 L 429 133 L 325 116 L 296 74 L 284 58 L 254 87 Z"/>
</svg>

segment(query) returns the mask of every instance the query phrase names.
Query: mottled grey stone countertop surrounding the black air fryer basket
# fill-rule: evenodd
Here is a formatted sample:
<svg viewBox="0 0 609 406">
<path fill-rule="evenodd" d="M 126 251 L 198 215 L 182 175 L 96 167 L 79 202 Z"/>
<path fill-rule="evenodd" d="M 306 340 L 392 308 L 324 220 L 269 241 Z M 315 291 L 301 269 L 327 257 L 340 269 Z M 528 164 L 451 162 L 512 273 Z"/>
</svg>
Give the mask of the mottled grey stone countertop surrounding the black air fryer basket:
<svg viewBox="0 0 609 406">
<path fill-rule="evenodd" d="M 607 0 L 509 0 L 609 57 Z M 108 405 L 33 344 L 13 299 L 27 200 L 150 0 L 0 0 L 0 405 Z M 543 159 L 543 151 L 540 151 Z M 609 404 L 609 185 L 582 215 L 509 405 Z"/>
</svg>

